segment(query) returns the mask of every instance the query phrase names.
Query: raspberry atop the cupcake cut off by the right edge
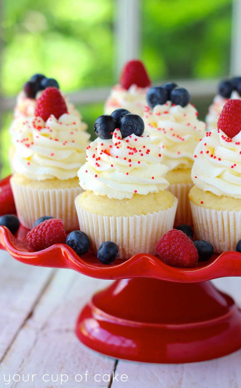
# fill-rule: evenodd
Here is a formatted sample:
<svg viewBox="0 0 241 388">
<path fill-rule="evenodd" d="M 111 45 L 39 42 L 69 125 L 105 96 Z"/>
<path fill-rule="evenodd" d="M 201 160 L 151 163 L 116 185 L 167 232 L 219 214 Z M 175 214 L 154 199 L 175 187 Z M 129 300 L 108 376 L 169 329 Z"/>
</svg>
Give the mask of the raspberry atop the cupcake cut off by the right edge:
<svg viewBox="0 0 241 388">
<path fill-rule="evenodd" d="M 217 129 L 230 138 L 237 135 L 241 130 L 241 100 L 229 100 L 222 108 L 217 122 Z"/>
</svg>

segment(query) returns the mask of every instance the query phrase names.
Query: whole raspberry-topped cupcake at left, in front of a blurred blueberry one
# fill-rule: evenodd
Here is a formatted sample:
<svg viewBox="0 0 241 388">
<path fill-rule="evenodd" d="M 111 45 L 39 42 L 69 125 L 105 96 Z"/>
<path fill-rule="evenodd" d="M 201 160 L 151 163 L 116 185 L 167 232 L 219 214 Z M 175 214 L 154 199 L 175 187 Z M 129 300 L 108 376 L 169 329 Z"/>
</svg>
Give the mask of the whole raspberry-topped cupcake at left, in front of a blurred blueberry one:
<svg viewBox="0 0 241 388">
<path fill-rule="evenodd" d="M 10 183 L 26 228 L 45 215 L 61 218 L 67 231 L 78 228 L 73 202 L 82 189 L 77 171 L 85 162 L 90 137 L 83 129 L 80 118 L 67 111 L 59 90 L 46 88 L 35 116 L 25 121 L 14 141 Z"/>
</svg>

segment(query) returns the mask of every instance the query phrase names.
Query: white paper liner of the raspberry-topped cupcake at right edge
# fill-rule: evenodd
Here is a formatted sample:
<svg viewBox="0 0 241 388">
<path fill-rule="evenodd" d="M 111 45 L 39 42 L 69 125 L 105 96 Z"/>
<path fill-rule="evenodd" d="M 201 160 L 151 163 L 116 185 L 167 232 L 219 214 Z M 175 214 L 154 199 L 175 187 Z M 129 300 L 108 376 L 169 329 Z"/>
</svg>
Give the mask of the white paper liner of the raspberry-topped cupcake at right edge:
<svg viewBox="0 0 241 388">
<path fill-rule="evenodd" d="M 207 209 L 190 201 L 196 240 L 209 241 L 215 253 L 235 251 L 241 239 L 241 211 Z"/>
</svg>

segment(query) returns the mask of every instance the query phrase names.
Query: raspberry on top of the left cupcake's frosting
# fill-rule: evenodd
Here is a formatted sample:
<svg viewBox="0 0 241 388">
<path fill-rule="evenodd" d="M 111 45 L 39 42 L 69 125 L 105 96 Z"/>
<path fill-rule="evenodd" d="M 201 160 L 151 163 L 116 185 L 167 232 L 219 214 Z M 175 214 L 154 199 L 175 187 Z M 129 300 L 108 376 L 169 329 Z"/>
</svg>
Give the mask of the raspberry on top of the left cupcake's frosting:
<svg viewBox="0 0 241 388">
<path fill-rule="evenodd" d="M 67 113 L 67 106 L 60 91 L 57 88 L 46 88 L 36 102 L 35 116 L 47 121 L 53 114 L 58 120 L 64 113 Z"/>
</svg>

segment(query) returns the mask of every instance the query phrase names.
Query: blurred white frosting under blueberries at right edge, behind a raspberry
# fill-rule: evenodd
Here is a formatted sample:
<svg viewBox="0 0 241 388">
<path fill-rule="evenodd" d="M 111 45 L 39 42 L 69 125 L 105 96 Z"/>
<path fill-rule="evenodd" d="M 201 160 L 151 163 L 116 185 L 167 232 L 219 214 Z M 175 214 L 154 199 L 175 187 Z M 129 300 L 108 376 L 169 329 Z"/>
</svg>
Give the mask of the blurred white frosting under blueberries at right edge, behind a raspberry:
<svg viewBox="0 0 241 388">
<path fill-rule="evenodd" d="M 241 99 L 241 96 L 236 90 L 232 91 L 230 99 Z M 222 97 L 220 94 L 215 95 L 213 103 L 210 105 L 205 121 L 207 123 L 207 129 L 211 131 L 217 128 L 217 121 L 219 120 L 222 108 L 226 104 L 229 98 Z"/>
</svg>

